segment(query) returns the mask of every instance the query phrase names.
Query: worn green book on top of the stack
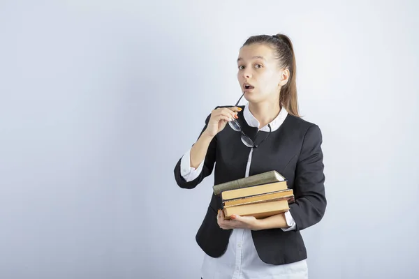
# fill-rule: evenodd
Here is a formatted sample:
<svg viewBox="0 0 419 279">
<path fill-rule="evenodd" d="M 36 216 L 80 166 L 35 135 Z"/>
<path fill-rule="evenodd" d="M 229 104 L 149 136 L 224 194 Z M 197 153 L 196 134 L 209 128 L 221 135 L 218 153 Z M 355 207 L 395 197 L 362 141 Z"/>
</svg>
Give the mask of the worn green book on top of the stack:
<svg viewBox="0 0 419 279">
<path fill-rule="evenodd" d="M 263 172 L 261 174 L 244 177 L 242 179 L 236 179 L 233 181 L 217 184 L 212 186 L 212 189 L 214 190 L 214 195 L 219 195 L 221 192 L 226 190 L 234 190 L 279 181 L 286 181 L 286 178 L 279 174 L 279 172 L 271 170 L 270 172 Z"/>
</svg>

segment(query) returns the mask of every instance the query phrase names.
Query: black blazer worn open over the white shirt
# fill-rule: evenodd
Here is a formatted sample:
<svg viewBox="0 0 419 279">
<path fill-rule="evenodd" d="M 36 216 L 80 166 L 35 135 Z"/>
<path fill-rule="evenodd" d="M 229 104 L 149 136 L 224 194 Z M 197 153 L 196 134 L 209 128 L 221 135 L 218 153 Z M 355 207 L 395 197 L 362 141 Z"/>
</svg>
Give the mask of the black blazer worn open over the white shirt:
<svg viewBox="0 0 419 279">
<path fill-rule="evenodd" d="M 244 108 L 244 107 L 242 107 Z M 238 113 L 244 133 L 253 141 L 260 142 L 267 135 L 247 125 L 243 110 Z M 207 127 L 210 115 L 205 120 Z M 276 170 L 288 180 L 293 189 L 295 203 L 290 205 L 296 229 L 251 231 L 258 255 L 267 264 L 288 264 L 307 258 L 307 250 L 300 234 L 302 229 L 318 223 L 325 213 L 326 198 L 323 174 L 321 130 L 314 123 L 288 114 L 284 123 L 271 133 L 258 148 L 253 149 L 249 176 Z M 175 166 L 175 180 L 181 188 L 192 189 L 214 172 L 214 185 L 241 179 L 246 172 L 251 149 L 240 140 L 240 133 L 226 126 L 218 133 L 207 151 L 203 171 L 193 181 L 186 182 L 180 174 L 180 158 Z M 215 164 L 215 167 L 214 167 Z M 200 248 L 211 257 L 220 257 L 226 251 L 231 229 L 221 229 L 216 223 L 216 214 L 221 209 L 220 195 L 212 195 L 203 223 L 196 234 Z"/>
</svg>

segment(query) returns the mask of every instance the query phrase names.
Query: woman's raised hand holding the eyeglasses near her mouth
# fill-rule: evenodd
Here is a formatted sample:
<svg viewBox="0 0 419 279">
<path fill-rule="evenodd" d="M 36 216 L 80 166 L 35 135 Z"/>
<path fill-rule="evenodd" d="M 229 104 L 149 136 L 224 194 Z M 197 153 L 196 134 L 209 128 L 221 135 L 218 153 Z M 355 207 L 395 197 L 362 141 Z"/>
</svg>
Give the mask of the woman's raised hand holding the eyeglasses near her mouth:
<svg viewBox="0 0 419 279">
<path fill-rule="evenodd" d="M 240 107 L 219 107 L 216 110 L 212 110 L 205 134 L 215 137 L 216 134 L 226 127 L 228 121 L 238 118 L 237 112 L 241 110 L 242 108 Z"/>
</svg>

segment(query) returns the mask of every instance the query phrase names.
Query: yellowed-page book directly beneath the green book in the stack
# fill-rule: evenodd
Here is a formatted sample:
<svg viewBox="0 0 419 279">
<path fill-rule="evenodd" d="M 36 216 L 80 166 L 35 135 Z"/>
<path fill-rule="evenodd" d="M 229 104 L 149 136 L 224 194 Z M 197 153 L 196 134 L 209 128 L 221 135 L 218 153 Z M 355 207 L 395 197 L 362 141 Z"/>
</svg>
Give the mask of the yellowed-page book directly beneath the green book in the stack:
<svg viewBox="0 0 419 279">
<path fill-rule="evenodd" d="M 226 190 L 221 192 L 221 199 L 237 199 L 240 197 L 251 197 L 254 195 L 278 192 L 280 190 L 287 190 L 286 181 L 267 183 L 258 186 L 249 186 L 245 188 L 238 188 L 234 190 Z"/>
</svg>

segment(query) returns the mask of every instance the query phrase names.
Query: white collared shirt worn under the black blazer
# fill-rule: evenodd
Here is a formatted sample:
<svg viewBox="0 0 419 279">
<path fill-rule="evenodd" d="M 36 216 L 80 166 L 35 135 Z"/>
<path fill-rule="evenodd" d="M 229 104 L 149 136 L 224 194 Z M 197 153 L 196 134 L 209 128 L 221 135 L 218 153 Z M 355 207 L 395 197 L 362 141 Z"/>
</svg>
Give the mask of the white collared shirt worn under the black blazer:
<svg viewBox="0 0 419 279">
<path fill-rule="evenodd" d="M 277 130 L 284 122 L 288 112 L 282 107 L 278 116 L 270 123 L 272 132 Z M 259 127 L 259 121 L 251 114 L 248 104 L 243 111 L 244 120 L 251 127 Z M 230 126 L 226 126 L 230 128 Z M 269 128 L 264 126 L 261 131 L 269 132 Z M 200 163 L 197 169 L 191 167 L 190 151 L 186 151 L 181 160 L 181 175 L 186 181 L 196 179 L 203 169 L 203 163 Z M 245 177 L 249 176 L 251 165 L 251 156 L 253 149 L 249 153 L 247 160 Z M 295 229 L 295 221 L 291 213 L 285 213 L 288 228 L 284 231 Z M 307 261 L 304 259 L 300 262 L 291 264 L 273 265 L 266 264 L 258 257 L 258 252 L 253 244 L 250 229 L 233 229 L 228 242 L 226 252 L 218 258 L 204 255 L 203 266 L 201 269 L 203 279 L 268 279 L 268 278 L 308 278 Z"/>
</svg>

